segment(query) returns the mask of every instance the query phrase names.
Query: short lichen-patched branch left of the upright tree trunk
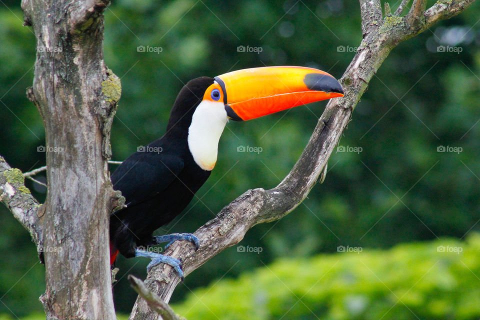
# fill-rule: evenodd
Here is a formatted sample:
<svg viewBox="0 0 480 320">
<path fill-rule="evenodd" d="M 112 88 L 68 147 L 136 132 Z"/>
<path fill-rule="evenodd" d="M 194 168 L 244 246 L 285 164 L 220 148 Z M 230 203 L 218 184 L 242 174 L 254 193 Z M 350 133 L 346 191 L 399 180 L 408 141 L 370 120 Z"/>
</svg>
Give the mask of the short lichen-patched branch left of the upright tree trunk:
<svg viewBox="0 0 480 320">
<path fill-rule="evenodd" d="M 0 201 L 13 213 L 13 216 L 30 232 L 37 252 L 42 251 L 41 218 L 43 206 L 31 195 L 25 186 L 19 169 L 12 168 L 0 155 Z"/>
</svg>

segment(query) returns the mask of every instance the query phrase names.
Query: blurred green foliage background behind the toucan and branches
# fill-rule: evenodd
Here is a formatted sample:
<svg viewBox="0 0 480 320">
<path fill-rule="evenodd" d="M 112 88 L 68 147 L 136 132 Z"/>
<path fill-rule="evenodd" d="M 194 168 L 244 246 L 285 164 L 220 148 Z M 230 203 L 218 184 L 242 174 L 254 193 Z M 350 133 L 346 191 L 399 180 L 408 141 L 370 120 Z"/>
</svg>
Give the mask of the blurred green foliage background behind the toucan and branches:
<svg viewBox="0 0 480 320">
<path fill-rule="evenodd" d="M 45 140 L 25 97 L 35 38 L 18 2 L 0 4 L 0 154 L 28 171 L 45 164 L 37 151 Z M 121 78 L 122 97 L 112 159 L 163 134 L 191 78 L 284 64 L 339 78 L 361 40 L 359 17 L 357 1 L 346 0 L 113 1 L 104 59 Z M 399 44 L 355 108 L 324 183 L 186 277 L 172 297 L 178 311 L 213 319 L 480 317 L 479 17 L 474 3 Z M 275 186 L 324 105 L 227 124 L 199 198 L 158 234 L 192 232 L 248 188 Z M 45 187 L 26 183 L 45 198 Z M 0 225 L 0 318 L 41 312 L 35 246 L 3 206 Z M 125 275 L 144 278 L 147 263 L 118 259 L 119 314 L 136 296 Z"/>
</svg>

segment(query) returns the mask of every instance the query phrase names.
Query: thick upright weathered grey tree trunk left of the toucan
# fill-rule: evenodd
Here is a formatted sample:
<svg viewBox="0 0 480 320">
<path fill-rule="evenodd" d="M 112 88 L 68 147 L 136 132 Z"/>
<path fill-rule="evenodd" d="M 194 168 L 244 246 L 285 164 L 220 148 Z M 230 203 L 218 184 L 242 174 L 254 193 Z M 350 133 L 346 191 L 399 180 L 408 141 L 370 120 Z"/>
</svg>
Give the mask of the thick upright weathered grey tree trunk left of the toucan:
<svg viewBox="0 0 480 320">
<path fill-rule="evenodd" d="M 36 36 L 27 95 L 46 132 L 43 258 L 48 319 L 115 319 L 109 274 L 109 130 L 120 96 L 103 63 L 103 14 L 93 1 L 23 0 Z"/>
</svg>

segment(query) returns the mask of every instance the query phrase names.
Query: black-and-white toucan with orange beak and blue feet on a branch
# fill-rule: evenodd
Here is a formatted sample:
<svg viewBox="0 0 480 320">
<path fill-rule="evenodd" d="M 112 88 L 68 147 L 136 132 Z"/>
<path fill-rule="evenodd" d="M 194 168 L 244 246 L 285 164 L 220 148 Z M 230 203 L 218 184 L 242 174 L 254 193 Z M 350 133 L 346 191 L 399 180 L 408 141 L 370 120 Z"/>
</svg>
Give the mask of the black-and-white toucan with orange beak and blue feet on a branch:
<svg viewBox="0 0 480 320">
<path fill-rule="evenodd" d="M 300 66 L 241 69 L 190 80 L 178 93 L 165 134 L 128 156 L 111 174 L 125 206 L 110 216 L 110 262 L 117 253 L 144 256 L 171 265 L 183 278 L 178 259 L 151 252 L 160 242 L 199 241 L 191 233 L 153 236 L 191 201 L 217 159 L 218 140 L 228 119 L 245 121 L 294 106 L 343 96 L 327 72 Z"/>
</svg>

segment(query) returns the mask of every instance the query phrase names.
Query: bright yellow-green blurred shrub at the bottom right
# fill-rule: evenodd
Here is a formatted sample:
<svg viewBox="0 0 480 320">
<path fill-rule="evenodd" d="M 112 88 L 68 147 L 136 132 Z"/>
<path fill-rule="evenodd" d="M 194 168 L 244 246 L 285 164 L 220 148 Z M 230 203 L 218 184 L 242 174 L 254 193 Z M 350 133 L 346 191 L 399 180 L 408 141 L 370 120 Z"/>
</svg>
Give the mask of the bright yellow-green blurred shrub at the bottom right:
<svg viewBox="0 0 480 320">
<path fill-rule="evenodd" d="M 480 235 L 280 259 L 173 309 L 187 319 L 477 319 Z"/>
</svg>

